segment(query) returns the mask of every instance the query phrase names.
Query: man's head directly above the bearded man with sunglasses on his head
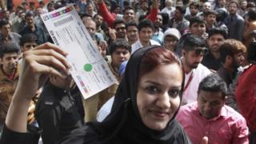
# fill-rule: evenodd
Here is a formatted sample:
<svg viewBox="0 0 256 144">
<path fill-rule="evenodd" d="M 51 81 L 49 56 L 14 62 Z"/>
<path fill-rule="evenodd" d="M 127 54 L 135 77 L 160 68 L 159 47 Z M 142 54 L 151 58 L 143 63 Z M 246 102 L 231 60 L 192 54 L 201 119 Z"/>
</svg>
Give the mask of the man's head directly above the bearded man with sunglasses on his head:
<svg viewBox="0 0 256 144">
<path fill-rule="evenodd" d="M 206 33 L 206 23 L 200 17 L 190 19 L 190 33 L 201 37 Z"/>
</svg>

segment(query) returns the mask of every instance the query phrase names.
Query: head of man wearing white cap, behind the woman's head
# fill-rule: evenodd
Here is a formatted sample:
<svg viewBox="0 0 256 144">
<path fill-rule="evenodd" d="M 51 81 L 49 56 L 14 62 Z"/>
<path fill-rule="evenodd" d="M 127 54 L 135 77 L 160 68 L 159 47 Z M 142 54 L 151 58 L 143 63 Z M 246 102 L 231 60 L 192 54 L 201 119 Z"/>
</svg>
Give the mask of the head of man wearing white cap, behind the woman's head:
<svg viewBox="0 0 256 144">
<path fill-rule="evenodd" d="M 175 28 L 170 28 L 163 34 L 163 45 L 170 51 L 175 51 L 176 44 L 178 43 L 181 34 Z"/>
</svg>

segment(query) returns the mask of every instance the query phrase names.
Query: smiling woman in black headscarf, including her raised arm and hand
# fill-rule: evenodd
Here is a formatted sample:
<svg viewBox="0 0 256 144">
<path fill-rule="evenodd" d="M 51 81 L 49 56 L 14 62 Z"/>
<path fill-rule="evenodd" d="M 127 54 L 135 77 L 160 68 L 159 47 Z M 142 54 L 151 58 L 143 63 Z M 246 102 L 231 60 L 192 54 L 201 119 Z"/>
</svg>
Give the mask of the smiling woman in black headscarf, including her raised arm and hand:
<svg viewBox="0 0 256 144">
<path fill-rule="evenodd" d="M 16 143 L 33 143 L 26 134 L 30 95 L 39 83 L 46 81 L 47 74 L 68 74 L 65 56 L 65 52 L 49 43 L 24 54 L 18 89 L 2 134 L 3 143 L 15 143 L 17 139 Z M 182 80 L 182 64 L 174 53 L 160 46 L 137 50 L 126 66 L 110 115 L 101 123 L 89 122 L 74 130 L 61 143 L 190 143 L 175 120 Z"/>
</svg>

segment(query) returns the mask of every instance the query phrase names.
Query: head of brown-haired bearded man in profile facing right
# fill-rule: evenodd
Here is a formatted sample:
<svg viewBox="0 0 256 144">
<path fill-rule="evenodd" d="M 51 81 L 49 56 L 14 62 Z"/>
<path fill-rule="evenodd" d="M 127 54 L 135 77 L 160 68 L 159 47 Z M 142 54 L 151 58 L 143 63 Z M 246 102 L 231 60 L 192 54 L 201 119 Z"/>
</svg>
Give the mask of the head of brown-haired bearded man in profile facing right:
<svg viewBox="0 0 256 144">
<path fill-rule="evenodd" d="M 246 46 L 238 40 L 226 39 L 219 51 L 222 63 L 229 66 L 230 69 L 237 69 L 245 60 Z"/>
</svg>

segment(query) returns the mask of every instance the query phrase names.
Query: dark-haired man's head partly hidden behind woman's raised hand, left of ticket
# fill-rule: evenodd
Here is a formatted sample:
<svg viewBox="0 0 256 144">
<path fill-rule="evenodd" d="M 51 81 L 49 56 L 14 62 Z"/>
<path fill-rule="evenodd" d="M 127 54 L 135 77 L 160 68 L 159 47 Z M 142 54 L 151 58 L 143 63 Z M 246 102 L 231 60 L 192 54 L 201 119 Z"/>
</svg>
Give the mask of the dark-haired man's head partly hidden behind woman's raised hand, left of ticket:
<svg viewBox="0 0 256 144">
<path fill-rule="evenodd" d="M 32 50 L 35 46 L 38 46 L 38 37 L 34 34 L 24 34 L 20 39 L 20 46 L 22 52 Z"/>
</svg>

